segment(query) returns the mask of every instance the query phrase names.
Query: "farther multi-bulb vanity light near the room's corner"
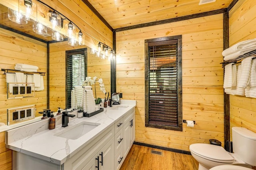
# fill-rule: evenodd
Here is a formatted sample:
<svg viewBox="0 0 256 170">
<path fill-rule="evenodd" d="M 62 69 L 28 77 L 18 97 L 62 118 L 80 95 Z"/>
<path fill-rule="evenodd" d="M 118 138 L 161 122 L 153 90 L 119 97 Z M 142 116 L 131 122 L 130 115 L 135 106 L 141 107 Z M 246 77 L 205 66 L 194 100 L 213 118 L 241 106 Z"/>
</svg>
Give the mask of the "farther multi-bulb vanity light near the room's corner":
<svg viewBox="0 0 256 170">
<path fill-rule="evenodd" d="M 103 50 L 102 50 L 103 48 Z M 116 59 L 116 55 L 115 55 L 115 51 L 110 48 L 108 45 L 99 42 L 97 45 L 97 50 L 96 49 L 91 49 L 91 54 L 95 55 L 95 57 L 100 57 L 102 59 L 110 59 L 110 60 L 115 60 Z"/>
</svg>

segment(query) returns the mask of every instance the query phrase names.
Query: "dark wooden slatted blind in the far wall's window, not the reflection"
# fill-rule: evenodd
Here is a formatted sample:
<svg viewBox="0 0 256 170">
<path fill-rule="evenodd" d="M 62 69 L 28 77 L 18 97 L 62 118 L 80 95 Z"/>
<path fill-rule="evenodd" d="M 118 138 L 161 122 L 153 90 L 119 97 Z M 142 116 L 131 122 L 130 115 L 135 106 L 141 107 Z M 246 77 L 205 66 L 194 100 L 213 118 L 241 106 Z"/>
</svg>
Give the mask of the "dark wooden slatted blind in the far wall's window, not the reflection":
<svg viewBox="0 0 256 170">
<path fill-rule="evenodd" d="M 178 40 L 148 43 L 146 124 L 152 125 L 149 127 L 179 126 L 177 56 Z"/>
</svg>

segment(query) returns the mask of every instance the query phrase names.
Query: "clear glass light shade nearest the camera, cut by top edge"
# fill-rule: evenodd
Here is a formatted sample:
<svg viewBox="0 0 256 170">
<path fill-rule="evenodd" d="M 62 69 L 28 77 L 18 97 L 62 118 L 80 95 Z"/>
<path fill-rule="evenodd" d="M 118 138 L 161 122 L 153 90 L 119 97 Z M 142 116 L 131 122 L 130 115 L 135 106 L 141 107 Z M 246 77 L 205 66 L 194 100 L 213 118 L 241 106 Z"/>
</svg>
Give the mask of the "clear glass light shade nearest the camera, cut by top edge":
<svg viewBox="0 0 256 170">
<path fill-rule="evenodd" d="M 37 6 L 32 0 L 18 0 L 19 1 L 19 12 L 24 15 L 28 21 L 37 20 Z"/>
</svg>

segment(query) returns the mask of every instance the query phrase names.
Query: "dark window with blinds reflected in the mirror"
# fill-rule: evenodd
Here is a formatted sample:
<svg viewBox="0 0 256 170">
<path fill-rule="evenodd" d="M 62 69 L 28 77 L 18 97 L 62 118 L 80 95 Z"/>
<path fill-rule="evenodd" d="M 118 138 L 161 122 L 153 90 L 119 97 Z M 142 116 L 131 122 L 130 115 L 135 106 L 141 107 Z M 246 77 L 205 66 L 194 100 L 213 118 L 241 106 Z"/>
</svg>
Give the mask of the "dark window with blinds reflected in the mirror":
<svg viewBox="0 0 256 170">
<path fill-rule="evenodd" d="M 71 108 L 71 91 L 82 86 L 87 75 L 87 49 L 66 51 L 66 107 Z"/>
</svg>

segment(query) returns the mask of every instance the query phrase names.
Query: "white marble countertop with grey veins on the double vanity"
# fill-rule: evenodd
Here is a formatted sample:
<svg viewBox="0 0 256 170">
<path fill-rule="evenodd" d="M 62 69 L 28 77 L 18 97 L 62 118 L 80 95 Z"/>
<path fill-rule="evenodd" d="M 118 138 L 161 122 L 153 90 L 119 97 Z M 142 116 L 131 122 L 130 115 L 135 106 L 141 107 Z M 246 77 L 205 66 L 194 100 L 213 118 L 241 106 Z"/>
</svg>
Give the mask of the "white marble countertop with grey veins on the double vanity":
<svg viewBox="0 0 256 170">
<path fill-rule="evenodd" d="M 114 124 L 125 113 L 136 107 L 136 101 L 122 100 L 121 105 L 104 108 L 104 111 L 92 117 L 70 119 L 68 127 L 61 127 L 61 117 L 56 117 L 56 128 L 48 129 L 48 119 L 14 128 L 6 131 L 6 147 L 17 152 L 22 152 L 42 160 L 50 161 L 55 164 L 63 164 L 68 158 L 76 154 L 81 148 L 86 146 L 98 134 Z M 114 107 L 128 106 L 121 110 Z M 77 112 L 77 111 L 76 111 Z M 70 113 L 76 115 L 77 113 Z M 80 122 L 100 123 L 96 128 L 84 134 L 76 140 L 54 136 L 54 134 L 72 128 Z"/>
</svg>

